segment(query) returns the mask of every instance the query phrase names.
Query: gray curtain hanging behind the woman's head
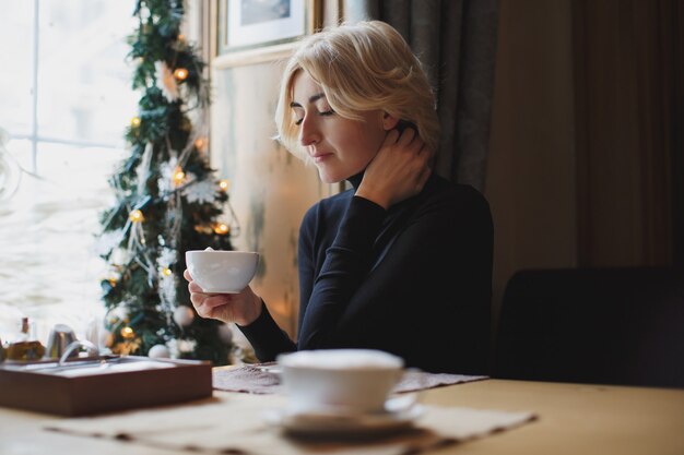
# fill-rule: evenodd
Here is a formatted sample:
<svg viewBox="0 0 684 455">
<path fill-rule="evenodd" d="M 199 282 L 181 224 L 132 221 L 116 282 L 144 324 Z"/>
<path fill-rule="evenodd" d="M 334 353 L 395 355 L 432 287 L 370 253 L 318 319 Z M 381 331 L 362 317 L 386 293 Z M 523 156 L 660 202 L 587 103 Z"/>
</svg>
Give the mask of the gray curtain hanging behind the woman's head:
<svg viewBox="0 0 684 455">
<path fill-rule="evenodd" d="M 484 191 L 498 0 L 343 0 L 342 14 L 385 21 L 403 35 L 437 92 L 435 170 Z"/>
</svg>

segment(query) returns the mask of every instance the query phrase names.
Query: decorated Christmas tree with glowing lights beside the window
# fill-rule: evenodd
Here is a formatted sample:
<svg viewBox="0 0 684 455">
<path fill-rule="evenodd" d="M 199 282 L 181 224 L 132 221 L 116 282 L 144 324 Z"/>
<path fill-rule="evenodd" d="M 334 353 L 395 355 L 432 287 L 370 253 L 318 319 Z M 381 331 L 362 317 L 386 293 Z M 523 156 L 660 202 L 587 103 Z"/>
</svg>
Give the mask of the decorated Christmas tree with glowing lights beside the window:
<svg viewBox="0 0 684 455">
<path fill-rule="evenodd" d="M 228 182 L 208 160 L 210 86 L 198 49 L 181 34 L 182 0 L 139 0 L 129 37 L 138 113 L 130 157 L 109 179 L 116 203 L 102 214 L 106 345 L 115 354 L 231 362 L 229 327 L 197 316 L 185 251 L 232 250 Z"/>
</svg>

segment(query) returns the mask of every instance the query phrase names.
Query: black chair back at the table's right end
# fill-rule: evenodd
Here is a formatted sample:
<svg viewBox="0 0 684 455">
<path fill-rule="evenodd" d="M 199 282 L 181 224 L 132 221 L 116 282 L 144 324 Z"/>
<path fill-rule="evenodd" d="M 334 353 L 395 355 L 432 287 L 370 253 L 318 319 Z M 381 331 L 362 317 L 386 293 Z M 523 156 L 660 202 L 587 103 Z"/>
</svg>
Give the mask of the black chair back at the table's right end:
<svg viewBox="0 0 684 455">
<path fill-rule="evenodd" d="M 516 273 L 502 304 L 493 376 L 684 387 L 684 271 Z"/>
</svg>

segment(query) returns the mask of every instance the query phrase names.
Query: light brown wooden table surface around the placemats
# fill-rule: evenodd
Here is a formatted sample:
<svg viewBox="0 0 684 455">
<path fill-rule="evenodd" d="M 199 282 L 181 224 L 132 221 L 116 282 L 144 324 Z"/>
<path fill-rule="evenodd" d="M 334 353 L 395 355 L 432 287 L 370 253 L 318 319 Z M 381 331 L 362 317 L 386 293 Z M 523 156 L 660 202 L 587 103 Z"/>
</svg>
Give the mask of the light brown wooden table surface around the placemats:
<svg viewBox="0 0 684 455">
<path fill-rule="evenodd" d="M 431 454 L 684 454 L 684 390 L 486 380 L 423 392 L 422 402 L 539 416 L 522 427 Z M 188 454 L 43 430 L 54 418 L 0 408 L 0 454 Z"/>
</svg>

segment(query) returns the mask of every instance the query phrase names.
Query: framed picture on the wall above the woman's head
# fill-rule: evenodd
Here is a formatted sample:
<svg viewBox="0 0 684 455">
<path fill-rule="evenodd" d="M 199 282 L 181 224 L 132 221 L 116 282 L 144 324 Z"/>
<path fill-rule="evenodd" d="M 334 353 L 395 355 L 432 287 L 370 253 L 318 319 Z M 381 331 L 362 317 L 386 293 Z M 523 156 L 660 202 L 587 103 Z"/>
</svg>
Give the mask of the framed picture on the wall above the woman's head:
<svg viewBox="0 0 684 455">
<path fill-rule="evenodd" d="M 217 53 L 259 49 L 311 33 L 316 0 L 221 0 Z"/>
</svg>

